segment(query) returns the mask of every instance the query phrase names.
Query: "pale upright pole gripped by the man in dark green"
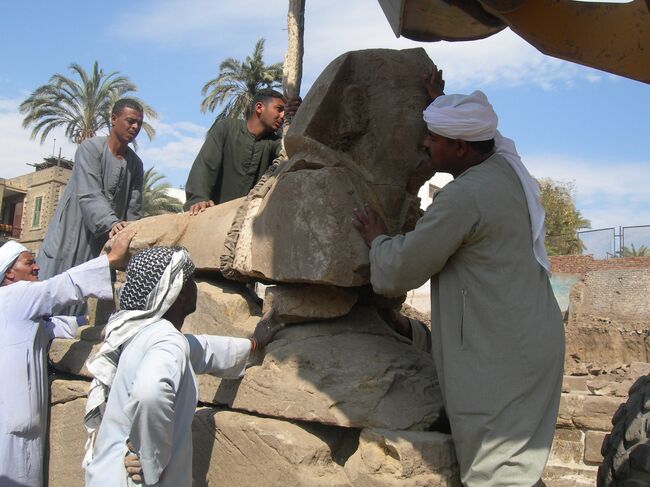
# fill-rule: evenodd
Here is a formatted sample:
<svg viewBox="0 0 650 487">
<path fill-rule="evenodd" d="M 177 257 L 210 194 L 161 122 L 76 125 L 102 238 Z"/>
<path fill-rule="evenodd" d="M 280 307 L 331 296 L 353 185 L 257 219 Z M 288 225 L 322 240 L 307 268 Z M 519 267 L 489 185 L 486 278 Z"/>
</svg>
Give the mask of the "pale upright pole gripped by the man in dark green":
<svg viewBox="0 0 650 487">
<path fill-rule="evenodd" d="M 300 96 L 304 54 L 305 0 L 289 0 L 287 31 L 289 42 L 287 43 L 287 53 L 284 56 L 282 86 L 284 87 L 284 96 L 291 99 Z M 290 117 L 286 117 L 283 134 L 286 134 L 290 124 Z"/>
</svg>

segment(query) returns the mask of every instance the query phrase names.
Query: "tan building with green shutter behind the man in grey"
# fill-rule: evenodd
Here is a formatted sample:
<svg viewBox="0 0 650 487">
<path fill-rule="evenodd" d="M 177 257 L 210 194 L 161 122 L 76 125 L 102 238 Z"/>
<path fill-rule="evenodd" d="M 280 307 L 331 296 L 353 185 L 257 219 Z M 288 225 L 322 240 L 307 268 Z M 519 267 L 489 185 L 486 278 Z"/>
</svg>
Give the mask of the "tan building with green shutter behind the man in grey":
<svg viewBox="0 0 650 487">
<path fill-rule="evenodd" d="M 18 240 L 38 253 L 47 225 L 72 174 L 73 162 L 47 157 L 34 172 L 0 178 L 0 244 Z"/>
</svg>

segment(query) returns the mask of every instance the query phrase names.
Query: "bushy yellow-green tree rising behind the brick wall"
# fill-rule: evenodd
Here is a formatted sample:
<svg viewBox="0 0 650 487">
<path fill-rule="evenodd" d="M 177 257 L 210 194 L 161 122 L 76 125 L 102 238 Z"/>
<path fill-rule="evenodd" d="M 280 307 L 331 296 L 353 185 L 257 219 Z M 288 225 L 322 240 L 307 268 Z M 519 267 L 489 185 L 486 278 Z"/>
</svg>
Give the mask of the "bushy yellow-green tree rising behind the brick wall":
<svg viewBox="0 0 650 487">
<path fill-rule="evenodd" d="M 584 245 L 578 239 L 577 232 L 591 228 L 591 222 L 575 206 L 574 184 L 550 178 L 538 182 L 542 206 L 546 211 L 546 251 L 549 255 L 580 254 Z"/>
</svg>

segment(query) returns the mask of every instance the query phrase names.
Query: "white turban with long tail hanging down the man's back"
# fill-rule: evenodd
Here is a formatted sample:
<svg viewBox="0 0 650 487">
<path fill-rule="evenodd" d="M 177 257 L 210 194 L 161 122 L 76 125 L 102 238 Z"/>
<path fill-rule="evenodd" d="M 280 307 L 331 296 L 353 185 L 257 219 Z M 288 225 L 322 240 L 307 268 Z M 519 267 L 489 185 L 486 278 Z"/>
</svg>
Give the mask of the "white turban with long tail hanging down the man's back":
<svg viewBox="0 0 650 487">
<path fill-rule="evenodd" d="M 495 152 L 508 161 L 521 181 L 528 203 L 535 258 L 550 274 L 539 185 L 521 162 L 515 143 L 497 130 L 499 119 L 485 94 L 475 91 L 471 95 L 439 96 L 424 110 L 423 116 L 427 128 L 443 137 L 468 142 L 494 139 Z"/>
</svg>

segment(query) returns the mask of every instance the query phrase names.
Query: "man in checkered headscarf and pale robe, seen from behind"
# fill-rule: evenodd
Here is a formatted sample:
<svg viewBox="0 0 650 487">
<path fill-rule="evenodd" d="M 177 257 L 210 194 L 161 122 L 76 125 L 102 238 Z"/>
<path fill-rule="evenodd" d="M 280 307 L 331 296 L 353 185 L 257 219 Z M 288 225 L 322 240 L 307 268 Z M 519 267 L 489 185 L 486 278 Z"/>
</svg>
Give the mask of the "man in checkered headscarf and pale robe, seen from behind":
<svg viewBox="0 0 650 487">
<path fill-rule="evenodd" d="M 95 377 L 85 416 L 88 487 L 123 485 L 127 441 L 147 485 L 190 487 L 195 374 L 241 377 L 251 350 L 277 331 L 267 319 L 251 339 L 180 333 L 196 308 L 193 273 L 183 247 L 145 249 L 129 263 L 120 311 L 86 364 Z"/>
</svg>

